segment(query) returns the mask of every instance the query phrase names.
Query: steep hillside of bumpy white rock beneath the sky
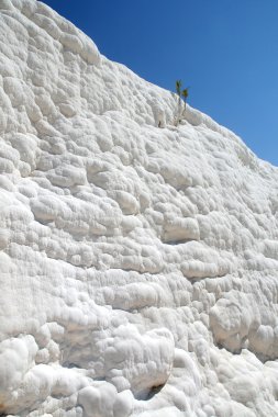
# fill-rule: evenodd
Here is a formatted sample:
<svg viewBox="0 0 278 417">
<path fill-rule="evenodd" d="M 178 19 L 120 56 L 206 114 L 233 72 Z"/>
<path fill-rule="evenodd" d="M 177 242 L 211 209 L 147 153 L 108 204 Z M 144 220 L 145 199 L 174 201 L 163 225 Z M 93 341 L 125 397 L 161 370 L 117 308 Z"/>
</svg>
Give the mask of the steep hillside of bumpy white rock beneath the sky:
<svg viewBox="0 0 278 417">
<path fill-rule="evenodd" d="M 0 1 L 1 416 L 278 416 L 278 168 L 176 116 Z"/>
</svg>

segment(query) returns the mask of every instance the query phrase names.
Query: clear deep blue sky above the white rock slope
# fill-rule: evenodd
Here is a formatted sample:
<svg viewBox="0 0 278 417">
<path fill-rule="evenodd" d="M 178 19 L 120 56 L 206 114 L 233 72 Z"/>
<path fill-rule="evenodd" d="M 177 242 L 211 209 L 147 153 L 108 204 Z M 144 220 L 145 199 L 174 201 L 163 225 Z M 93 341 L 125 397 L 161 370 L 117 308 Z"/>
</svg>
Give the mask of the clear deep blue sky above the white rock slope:
<svg viewBox="0 0 278 417">
<path fill-rule="evenodd" d="M 175 90 L 278 166 L 278 0 L 45 0 L 101 54 Z"/>
</svg>

